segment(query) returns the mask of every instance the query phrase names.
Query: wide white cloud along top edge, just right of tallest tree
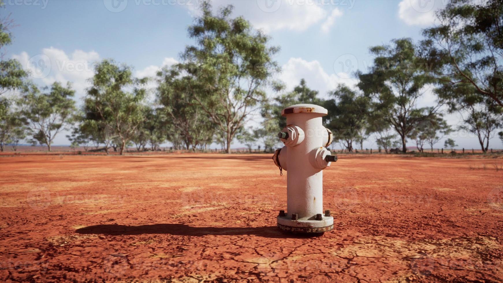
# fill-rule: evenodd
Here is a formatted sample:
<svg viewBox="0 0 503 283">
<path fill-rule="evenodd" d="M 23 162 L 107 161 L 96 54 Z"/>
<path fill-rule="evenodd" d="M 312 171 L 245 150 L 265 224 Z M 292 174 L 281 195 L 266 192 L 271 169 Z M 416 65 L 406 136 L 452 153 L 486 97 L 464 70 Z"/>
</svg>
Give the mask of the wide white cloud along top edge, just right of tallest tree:
<svg viewBox="0 0 503 283">
<path fill-rule="evenodd" d="M 234 5 L 234 16 L 244 16 L 255 28 L 270 33 L 278 30 L 305 31 L 321 22 L 328 13 L 316 3 L 309 0 L 254 0 L 240 1 L 239 5 L 235 5 L 232 0 L 213 0 L 212 7 L 217 11 L 221 7 Z M 197 6 L 185 7 L 192 16 L 199 15 L 201 11 Z"/>
</svg>

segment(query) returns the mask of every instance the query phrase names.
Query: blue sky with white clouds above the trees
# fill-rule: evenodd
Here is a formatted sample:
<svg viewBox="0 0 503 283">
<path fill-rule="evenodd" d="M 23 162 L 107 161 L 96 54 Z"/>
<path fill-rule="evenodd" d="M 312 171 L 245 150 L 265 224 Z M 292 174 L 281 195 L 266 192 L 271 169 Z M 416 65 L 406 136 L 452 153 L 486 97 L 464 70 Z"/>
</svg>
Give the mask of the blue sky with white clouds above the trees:
<svg viewBox="0 0 503 283">
<path fill-rule="evenodd" d="M 187 27 L 200 12 L 199 0 L 5 1 L 2 16 L 12 13 L 18 25 L 7 56 L 31 68 L 33 80 L 41 85 L 72 81 L 77 100 L 89 86 L 93 62 L 100 59 L 132 65 L 137 76 L 175 63 L 184 47 L 193 44 Z M 271 36 L 271 44 L 281 47 L 275 58 L 283 68 L 278 78 L 288 88 L 305 78 L 326 96 L 338 83 L 355 83 L 352 72 L 365 71 L 372 61 L 369 46 L 401 37 L 420 40 L 421 30 L 433 24 L 435 10 L 446 1 L 213 0 L 213 6 L 233 4 L 235 16 L 244 16 Z M 33 62 L 41 59 L 49 70 L 34 69 Z M 421 103 L 433 101 L 427 94 Z M 459 115 L 448 118 L 459 124 Z M 478 148 L 473 137 L 454 138 L 460 147 Z M 501 147 L 498 139 L 491 142 Z M 64 134 L 55 144 L 67 144 Z M 369 140 L 364 146 L 372 145 Z"/>
</svg>

